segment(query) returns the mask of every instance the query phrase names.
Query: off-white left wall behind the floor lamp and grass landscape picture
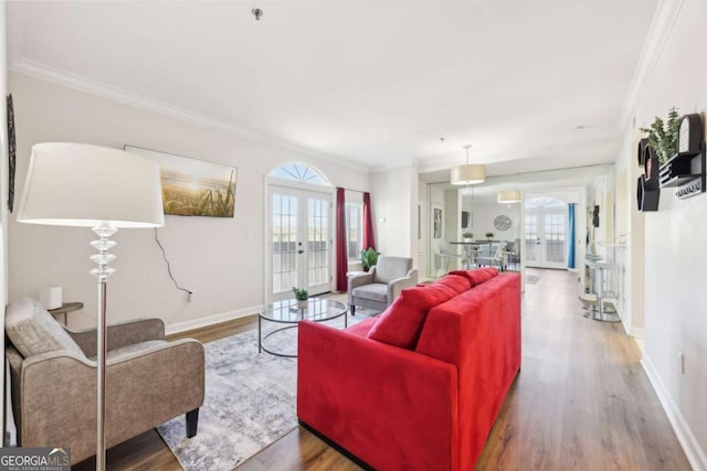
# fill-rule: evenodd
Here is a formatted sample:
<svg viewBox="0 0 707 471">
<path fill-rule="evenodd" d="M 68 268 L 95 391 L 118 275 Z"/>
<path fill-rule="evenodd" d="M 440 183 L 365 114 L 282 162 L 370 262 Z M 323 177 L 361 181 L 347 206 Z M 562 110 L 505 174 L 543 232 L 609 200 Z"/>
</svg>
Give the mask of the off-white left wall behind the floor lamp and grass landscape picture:
<svg viewBox="0 0 707 471">
<path fill-rule="evenodd" d="M 122 149 L 125 143 L 238 167 L 234 218 L 167 216 L 159 229 L 172 272 L 194 292 L 177 291 L 149 229 L 124 229 L 112 250 L 118 272 L 108 282 L 110 322 L 159 317 L 180 330 L 254 313 L 264 289 L 264 184 L 274 167 L 302 161 L 335 186 L 368 190 L 368 172 L 273 143 L 236 137 L 19 74 L 10 74 L 18 129 L 15 194 L 21 195 L 32 144 L 75 141 Z M 71 191 L 71 189 L 66 189 Z M 373 201 L 380 200 L 376 193 Z M 18 224 L 9 227 L 10 299 L 60 285 L 65 301 L 83 301 L 70 327 L 94 324 L 96 288 L 88 275 L 93 233 Z"/>
</svg>

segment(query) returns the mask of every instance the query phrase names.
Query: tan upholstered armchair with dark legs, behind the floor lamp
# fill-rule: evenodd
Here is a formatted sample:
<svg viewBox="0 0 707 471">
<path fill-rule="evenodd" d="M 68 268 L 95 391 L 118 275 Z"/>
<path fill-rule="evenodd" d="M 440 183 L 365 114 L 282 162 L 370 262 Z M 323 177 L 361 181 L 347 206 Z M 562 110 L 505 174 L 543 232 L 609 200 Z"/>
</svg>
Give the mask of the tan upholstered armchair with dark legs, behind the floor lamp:
<svg viewBox="0 0 707 471">
<path fill-rule="evenodd" d="M 96 330 L 71 331 L 39 301 L 8 306 L 12 410 L 21 447 L 71 447 L 72 464 L 96 451 Z M 203 345 L 165 341 L 165 324 L 144 319 L 108 327 L 108 447 L 187 414 L 197 433 L 204 394 Z"/>
</svg>

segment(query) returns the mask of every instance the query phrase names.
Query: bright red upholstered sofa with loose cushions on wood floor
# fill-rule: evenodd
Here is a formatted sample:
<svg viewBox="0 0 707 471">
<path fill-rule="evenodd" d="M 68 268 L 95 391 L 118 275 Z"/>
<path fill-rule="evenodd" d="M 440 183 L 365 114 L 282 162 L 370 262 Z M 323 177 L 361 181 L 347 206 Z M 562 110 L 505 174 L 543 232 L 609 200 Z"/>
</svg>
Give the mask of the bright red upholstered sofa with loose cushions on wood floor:
<svg viewBox="0 0 707 471">
<path fill-rule="evenodd" d="M 472 470 L 520 370 L 520 276 L 453 271 L 347 330 L 299 323 L 300 424 L 379 470 Z"/>
</svg>

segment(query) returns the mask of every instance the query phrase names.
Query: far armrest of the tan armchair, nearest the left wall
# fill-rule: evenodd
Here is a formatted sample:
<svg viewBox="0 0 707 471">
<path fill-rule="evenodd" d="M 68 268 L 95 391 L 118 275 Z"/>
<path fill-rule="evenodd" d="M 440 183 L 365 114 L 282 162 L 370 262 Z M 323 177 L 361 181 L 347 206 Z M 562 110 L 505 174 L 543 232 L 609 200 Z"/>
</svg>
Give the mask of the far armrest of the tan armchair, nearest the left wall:
<svg viewBox="0 0 707 471">
<path fill-rule="evenodd" d="M 96 329 L 71 330 L 66 332 L 74 339 L 86 356 L 96 356 Z M 165 322 L 161 319 L 135 319 L 108 325 L 108 350 L 120 349 L 149 340 L 165 340 Z"/>
</svg>

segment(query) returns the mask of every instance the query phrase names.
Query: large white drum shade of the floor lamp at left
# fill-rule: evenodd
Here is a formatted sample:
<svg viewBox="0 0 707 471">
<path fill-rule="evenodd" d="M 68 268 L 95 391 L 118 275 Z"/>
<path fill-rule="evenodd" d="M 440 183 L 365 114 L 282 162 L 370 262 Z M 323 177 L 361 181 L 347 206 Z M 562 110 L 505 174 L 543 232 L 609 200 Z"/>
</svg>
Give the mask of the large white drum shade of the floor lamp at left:
<svg viewBox="0 0 707 471">
<path fill-rule="evenodd" d="M 159 165 L 118 149 L 35 144 L 18 221 L 80 227 L 163 226 Z"/>
</svg>

